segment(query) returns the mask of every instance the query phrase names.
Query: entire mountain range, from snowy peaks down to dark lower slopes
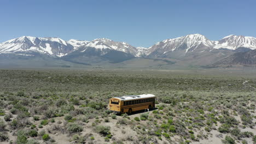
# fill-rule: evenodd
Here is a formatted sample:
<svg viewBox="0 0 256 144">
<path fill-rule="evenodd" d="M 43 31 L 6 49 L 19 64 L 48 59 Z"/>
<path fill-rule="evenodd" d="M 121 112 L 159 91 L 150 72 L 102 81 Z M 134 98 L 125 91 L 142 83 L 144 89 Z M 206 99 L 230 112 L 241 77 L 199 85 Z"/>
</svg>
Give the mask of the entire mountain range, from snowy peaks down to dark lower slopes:
<svg viewBox="0 0 256 144">
<path fill-rule="evenodd" d="M 229 56 L 233 58 L 238 56 L 234 53 L 248 53 L 255 49 L 256 38 L 242 35 L 229 35 L 218 41 L 212 41 L 201 34 L 189 34 L 160 41 L 148 48 L 134 47 L 125 42 L 106 38 L 92 41 L 74 39 L 65 41 L 60 38 L 24 36 L 0 44 L 0 58 L 6 61 L 6 59 L 29 60 L 32 57 L 44 57 L 44 59 L 61 59 L 86 65 L 102 62 L 120 63 L 129 59 L 140 61 L 142 58 L 149 58 L 173 61 L 179 65 L 210 65 L 222 62 L 222 59 Z M 248 61 L 251 60 L 248 59 Z M 243 63 L 234 64 L 243 65 Z M 250 64 L 253 63 L 246 63 L 246 65 Z"/>
</svg>

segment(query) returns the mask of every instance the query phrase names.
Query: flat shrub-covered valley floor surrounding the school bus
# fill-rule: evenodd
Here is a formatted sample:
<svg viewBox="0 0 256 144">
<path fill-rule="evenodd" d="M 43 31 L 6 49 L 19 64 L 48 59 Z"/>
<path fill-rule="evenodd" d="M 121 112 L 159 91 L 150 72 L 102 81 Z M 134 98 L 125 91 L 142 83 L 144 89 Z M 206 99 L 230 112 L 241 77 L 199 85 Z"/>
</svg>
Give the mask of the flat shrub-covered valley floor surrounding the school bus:
<svg viewBox="0 0 256 144">
<path fill-rule="evenodd" d="M 256 143 L 256 75 L 218 70 L 0 70 L 0 143 Z M 108 99 L 151 93 L 114 115 Z"/>
</svg>

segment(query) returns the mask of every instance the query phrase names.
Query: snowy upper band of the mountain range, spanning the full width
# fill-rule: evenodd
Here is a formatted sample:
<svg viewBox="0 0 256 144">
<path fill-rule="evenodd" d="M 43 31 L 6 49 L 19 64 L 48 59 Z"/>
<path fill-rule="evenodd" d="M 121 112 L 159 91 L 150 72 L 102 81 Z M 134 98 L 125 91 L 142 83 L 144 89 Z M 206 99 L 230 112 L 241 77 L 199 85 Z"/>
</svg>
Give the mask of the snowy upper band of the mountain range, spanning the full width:
<svg viewBox="0 0 256 144">
<path fill-rule="evenodd" d="M 123 51 L 131 53 L 135 57 L 150 57 L 152 53 L 157 52 L 158 55 L 165 55 L 167 52 L 173 52 L 179 49 L 182 49 L 184 53 L 193 52 L 196 49 L 200 50 L 197 52 L 222 48 L 236 50 L 238 47 L 246 47 L 254 50 L 256 49 L 256 38 L 242 35 L 228 35 L 218 41 L 212 41 L 201 34 L 189 34 L 174 39 L 165 39 L 148 48 L 142 48 L 106 38 L 94 39 L 92 41 L 75 39 L 65 41 L 60 38 L 22 36 L 1 43 L 0 52 L 37 51 L 50 56 L 62 57 L 85 45 L 87 47 L 95 47 L 96 49 Z"/>
</svg>

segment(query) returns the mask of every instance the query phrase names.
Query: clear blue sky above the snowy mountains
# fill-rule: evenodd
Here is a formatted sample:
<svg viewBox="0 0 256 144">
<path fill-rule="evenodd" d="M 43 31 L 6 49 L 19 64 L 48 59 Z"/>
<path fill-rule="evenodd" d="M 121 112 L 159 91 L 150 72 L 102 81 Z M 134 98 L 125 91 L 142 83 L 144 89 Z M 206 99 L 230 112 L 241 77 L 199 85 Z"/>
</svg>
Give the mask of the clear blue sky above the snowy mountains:
<svg viewBox="0 0 256 144">
<path fill-rule="evenodd" d="M 108 38 L 133 46 L 200 33 L 256 37 L 256 1 L 0 1 L 0 43 L 29 35 Z"/>
</svg>

